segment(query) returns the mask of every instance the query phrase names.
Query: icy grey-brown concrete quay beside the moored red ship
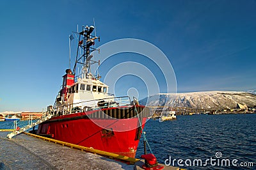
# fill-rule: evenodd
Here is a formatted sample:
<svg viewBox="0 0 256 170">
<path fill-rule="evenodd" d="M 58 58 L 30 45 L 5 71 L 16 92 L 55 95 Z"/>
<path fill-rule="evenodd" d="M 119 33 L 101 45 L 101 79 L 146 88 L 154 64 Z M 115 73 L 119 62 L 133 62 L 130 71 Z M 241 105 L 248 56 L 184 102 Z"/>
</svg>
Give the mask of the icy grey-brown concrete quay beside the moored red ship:
<svg viewBox="0 0 256 170">
<path fill-rule="evenodd" d="M 142 169 L 143 160 L 133 164 L 127 164 L 102 157 L 93 153 L 77 150 L 61 144 L 20 134 L 12 139 L 4 138 L 6 132 L 1 132 L 1 141 L 6 146 L 12 146 L 15 153 L 10 152 L 6 146 L 3 151 L 1 166 L 10 169 Z M 19 152 L 19 153 L 17 153 Z M 9 156 L 8 156 L 9 155 Z M 15 155 L 13 157 L 13 155 Z M 1 157 L 1 155 L 0 155 Z M 7 160 L 8 158 L 8 160 Z M 13 161 L 12 161 L 13 158 Z M 29 161 L 28 161 L 29 160 Z M 41 163 L 40 163 L 41 162 Z M 43 163 L 42 163 L 43 162 Z M 164 169 L 179 169 L 178 167 L 167 167 Z"/>
</svg>

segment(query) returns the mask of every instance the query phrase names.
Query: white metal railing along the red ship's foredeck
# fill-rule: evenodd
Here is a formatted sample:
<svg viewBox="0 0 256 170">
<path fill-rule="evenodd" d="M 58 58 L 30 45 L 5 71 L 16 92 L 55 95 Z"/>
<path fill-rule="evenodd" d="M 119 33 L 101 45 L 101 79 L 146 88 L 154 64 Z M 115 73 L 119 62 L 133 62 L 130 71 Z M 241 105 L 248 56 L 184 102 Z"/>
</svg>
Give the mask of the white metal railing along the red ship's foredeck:
<svg viewBox="0 0 256 170">
<path fill-rule="evenodd" d="M 131 105 L 130 97 L 109 97 L 98 100 L 86 100 L 74 104 L 65 104 L 54 108 L 55 114 L 71 114 L 75 112 L 94 111 L 110 107 L 122 107 Z"/>
</svg>

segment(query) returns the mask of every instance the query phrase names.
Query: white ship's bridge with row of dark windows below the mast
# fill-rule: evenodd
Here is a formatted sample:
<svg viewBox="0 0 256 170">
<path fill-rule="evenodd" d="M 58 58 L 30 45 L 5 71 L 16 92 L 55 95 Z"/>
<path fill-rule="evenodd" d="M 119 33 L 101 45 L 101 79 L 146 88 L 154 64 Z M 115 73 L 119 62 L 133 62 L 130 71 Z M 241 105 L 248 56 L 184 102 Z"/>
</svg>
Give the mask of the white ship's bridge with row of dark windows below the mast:
<svg viewBox="0 0 256 170">
<path fill-rule="evenodd" d="M 99 107 L 102 103 L 108 103 L 109 105 L 114 102 L 115 97 L 108 93 L 108 88 L 106 84 L 93 77 L 91 73 L 87 76 L 84 74 L 77 78 L 77 82 L 73 82 L 69 86 L 68 84 L 63 86 L 59 97 L 57 97 L 57 107 L 79 107 L 83 109 L 84 107 Z"/>
</svg>

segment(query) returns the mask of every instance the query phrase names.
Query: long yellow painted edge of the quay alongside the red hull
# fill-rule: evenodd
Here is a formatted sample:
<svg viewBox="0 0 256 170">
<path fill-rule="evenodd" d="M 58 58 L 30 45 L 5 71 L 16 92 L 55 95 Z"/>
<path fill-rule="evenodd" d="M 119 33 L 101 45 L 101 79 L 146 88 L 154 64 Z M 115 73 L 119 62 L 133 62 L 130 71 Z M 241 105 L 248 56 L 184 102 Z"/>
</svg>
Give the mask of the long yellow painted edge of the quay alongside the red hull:
<svg viewBox="0 0 256 170">
<path fill-rule="evenodd" d="M 81 151 L 88 151 L 90 153 L 96 153 L 97 155 L 102 155 L 102 156 L 105 156 L 105 157 L 118 159 L 118 160 L 124 160 L 125 162 L 130 162 L 131 164 L 134 164 L 135 162 L 140 161 L 140 159 L 138 159 L 138 158 L 126 157 L 126 156 L 123 156 L 123 155 L 118 155 L 116 153 L 110 153 L 108 151 L 95 150 L 93 148 L 88 148 L 88 147 L 80 146 L 80 145 L 77 145 L 77 144 L 65 143 L 63 141 L 58 141 L 56 139 L 51 139 L 51 138 L 48 138 L 48 137 L 42 137 L 40 135 L 30 134 L 28 132 L 23 132 L 23 133 L 27 134 L 27 135 L 31 135 L 33 137 L 38 137 L 40 139 L 47 140 L 49 142 L 62 144 L 63 146 L 69 146 L 71 148 L 76 148 L 76 149 L 81 150 Z"/>
</svg>

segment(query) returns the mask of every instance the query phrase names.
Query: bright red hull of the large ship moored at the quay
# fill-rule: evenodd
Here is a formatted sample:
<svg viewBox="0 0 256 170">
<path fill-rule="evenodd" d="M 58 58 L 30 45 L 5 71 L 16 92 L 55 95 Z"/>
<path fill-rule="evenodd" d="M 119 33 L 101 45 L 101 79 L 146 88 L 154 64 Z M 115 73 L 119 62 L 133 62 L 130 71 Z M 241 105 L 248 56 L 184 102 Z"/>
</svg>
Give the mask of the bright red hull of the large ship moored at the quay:
<svg viewBox="0 0 256 170">
<path fill-rule="evenodd" d="M 137 106 L 137 108 L 141 110 L 144 107 Z M 102 110 L 110 112 L 113 109 L 116 108 Z M 121 112 L 124 110 L 122 109 Z M 138 116 L 133 115 L 132 118 L 123 117 L 119 119 L 88 118 L 96 112 L 89 111 L 56 116 L 40 124 L 37 134 L 49 135 L 53 139 L 67 143 L 134 158 L 140 141 L 141 128 L 144 128 L 147 120 L 145 114 L 144 116 L 139 116 L 140 120 Z M 140 125 L 142 126 L 140 127 Z"/>
</svg>

